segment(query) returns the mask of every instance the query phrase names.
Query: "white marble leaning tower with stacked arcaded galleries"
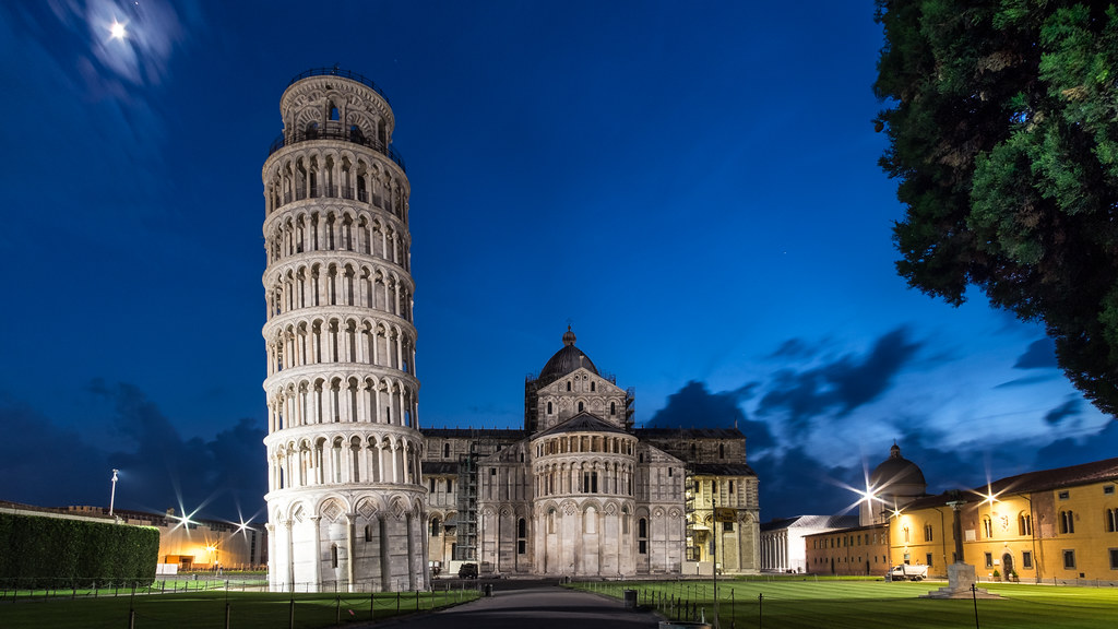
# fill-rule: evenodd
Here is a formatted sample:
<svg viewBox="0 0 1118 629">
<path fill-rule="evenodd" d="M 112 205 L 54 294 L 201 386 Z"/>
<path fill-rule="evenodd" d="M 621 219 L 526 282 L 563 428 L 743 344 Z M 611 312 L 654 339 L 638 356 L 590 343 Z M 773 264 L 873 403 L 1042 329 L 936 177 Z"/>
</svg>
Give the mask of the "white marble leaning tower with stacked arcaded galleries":
<svg viewBox="0 0 1118 629">
<path fill-rule="evenodd" d="M 408 196 L 388 98 L 338 68 L 280 102 L 264 162 L 268 579 L 428 583 Z"/>
</svg>

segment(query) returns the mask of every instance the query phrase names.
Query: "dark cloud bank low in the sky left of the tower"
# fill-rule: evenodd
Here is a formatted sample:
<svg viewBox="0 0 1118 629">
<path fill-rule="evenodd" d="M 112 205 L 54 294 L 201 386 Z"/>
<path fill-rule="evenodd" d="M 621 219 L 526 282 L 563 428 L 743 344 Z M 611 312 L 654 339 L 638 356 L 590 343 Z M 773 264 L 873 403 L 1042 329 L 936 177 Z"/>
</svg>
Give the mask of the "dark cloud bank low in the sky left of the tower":
<svg viewBox="0 0 1118 629">
<path fill-rule="evenodd" d="M 243 419 L 212 439 L 183 440 L 158 405 L 133 385 L 93 381 L 93 405 L 107 403 L 116 445 L 101 449 L 25 404 L 0 401 L 0 476 L 19 478 L 2 499 L 40 506 L 107 506 L 120 469 L 116 507 L 146 511 L 199 509 L 199 517 L 238 519 L 263 513 L 267 490 L 264 430 Z M 53 457 L 44 464 L 49 450 Z"/>
</svg>

